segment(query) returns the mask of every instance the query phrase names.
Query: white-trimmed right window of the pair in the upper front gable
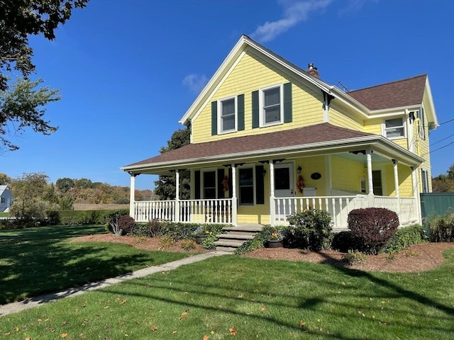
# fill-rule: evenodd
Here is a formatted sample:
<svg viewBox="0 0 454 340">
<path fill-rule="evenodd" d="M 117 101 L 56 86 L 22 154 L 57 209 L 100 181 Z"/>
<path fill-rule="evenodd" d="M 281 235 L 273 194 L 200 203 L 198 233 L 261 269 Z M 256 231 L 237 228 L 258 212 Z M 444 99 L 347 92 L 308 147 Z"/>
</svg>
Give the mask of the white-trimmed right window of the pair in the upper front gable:
<svg viewBox="0 0 454 340">
<path fill-rule="evenodd" d="M 282 85 L 260 89 L 260 126 L 282 124 L 283 121 Z"/>
</svg>

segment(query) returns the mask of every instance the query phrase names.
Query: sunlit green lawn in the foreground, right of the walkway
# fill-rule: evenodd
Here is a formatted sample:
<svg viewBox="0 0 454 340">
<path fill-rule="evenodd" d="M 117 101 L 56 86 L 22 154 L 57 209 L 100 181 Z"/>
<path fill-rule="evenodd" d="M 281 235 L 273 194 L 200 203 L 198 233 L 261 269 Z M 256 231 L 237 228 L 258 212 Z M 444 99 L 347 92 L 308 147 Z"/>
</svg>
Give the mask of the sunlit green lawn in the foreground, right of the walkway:
<svg viewBox="0 0 454 340">
<path fill-rule="evenodd" d="M 0 338 L 453 339 L 445 256 L 422 273 L 215 257 L 0 317 Z"/>
</svg>

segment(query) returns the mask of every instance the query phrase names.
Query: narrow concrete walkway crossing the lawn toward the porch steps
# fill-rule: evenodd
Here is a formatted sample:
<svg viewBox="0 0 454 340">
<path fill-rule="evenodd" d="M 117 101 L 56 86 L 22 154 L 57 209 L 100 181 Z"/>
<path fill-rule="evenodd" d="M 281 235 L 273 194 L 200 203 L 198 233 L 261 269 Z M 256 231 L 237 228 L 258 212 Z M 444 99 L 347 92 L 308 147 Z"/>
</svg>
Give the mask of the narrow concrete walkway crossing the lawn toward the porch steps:
<svg viewBox="0 0 454 340">
<path fill-rule="evenodd" d="M 82 285 L 81 287 L 77 288 L 70 288 L 67 290 L 62 290 L 58 293 L 50 293 L 46 295 L 40 295 L 37 297 L 31 297 L 28 300 L 20 301 L 20 302 L 13 302 L 7 305 L 0 306 L 0 316 L 21 312 L 22 310 L 27 310 L 28 308 L 36 307 L 45 302 L 54 302 L 60 300 L 64 297 L 80 295 L 85 292 L 89 292 L 90 290 L 96 290 L 101 288 L 106 288 L 109 285 L 114 285 L 116 283 L 121 283 L 125 280 L 131 280 L 131 278 L 143 278 L 144 276 L 148 276 L 150 274 L 162 272 L 162 271 L 172 271 L 173 269 L 178 268 L 179 266 L 184 266 L 185 264 L 204 261 L 205 259 L 209 259 L 210 257 L 214 256 L 222 256 L 232 254 L 231 252 L 226 251 L 211 251 L 209 253 L 199 254 L 195 256 L 189 256 L 185 259 L 164 263 L 159 266 L 153 266 L 148 268 L 143 268 L 138 271 L 134 271 L 133 273 L 124 274 L 121 276 L 117 276 L 116 278 L 106 278 L 106 280 L 101 280 L 94 283 L 87 283 L 86 285 Z"/>
</svg>

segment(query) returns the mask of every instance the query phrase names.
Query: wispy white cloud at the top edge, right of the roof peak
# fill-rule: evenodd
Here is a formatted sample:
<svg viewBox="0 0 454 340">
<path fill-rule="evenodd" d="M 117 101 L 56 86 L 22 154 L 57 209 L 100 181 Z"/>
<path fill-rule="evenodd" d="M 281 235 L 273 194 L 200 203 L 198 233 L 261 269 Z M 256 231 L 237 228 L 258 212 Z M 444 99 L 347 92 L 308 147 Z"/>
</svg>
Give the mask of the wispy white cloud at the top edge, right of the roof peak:
<svg viewBox="0 0 454 340">
<path fill-rule="evenodd" d="M 260 42 L 273 40 L 277 35 L 286 32 L 289 28 L 297 25 L 301 21 L 306 21 L 309 18 L 309 13 L 313 11 L 323 10 L 332 0 L 304 0 L 292 1 L 281 0 L 279 4 L 284 6 L 284 14 L 277 21 L 267 21 L 251 34 L 251 37 Z"/>
</svg>

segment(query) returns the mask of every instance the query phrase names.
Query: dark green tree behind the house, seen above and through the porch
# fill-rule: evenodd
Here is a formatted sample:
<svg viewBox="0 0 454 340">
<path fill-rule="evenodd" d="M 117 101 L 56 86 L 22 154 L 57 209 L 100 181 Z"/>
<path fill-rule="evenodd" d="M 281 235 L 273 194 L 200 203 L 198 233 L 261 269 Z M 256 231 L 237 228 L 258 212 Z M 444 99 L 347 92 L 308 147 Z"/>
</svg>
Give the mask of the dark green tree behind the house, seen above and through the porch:
<svg viewBox="0 0 454 340">
<path fill-rule="evenodd" d="M 185 145 L 189 145 L 191 141 L 191 130 L 190 128 L 184 130 L 177 130 L 173 132 L 170 140 L 167 141 L 167 147 L 161 147 L 160 153 L 170 152 Z M 190 198 L 190 178 L 189 176 L 179 176 L 179 198 L 189 199 Z M 176 176 L 172 175 L 161 175 L 159 179 L 155 181 L 155 194 L 160 197 L 161 200 L 171 199 L 174 200 L 176 197 L 177 185 Z"/>
</svg>

